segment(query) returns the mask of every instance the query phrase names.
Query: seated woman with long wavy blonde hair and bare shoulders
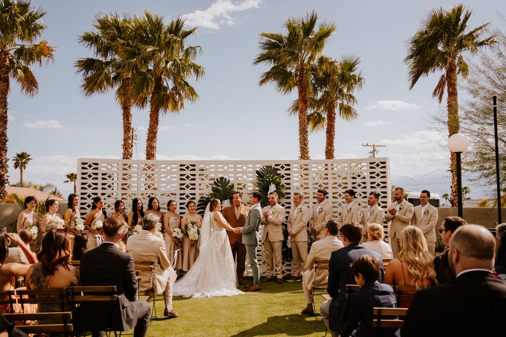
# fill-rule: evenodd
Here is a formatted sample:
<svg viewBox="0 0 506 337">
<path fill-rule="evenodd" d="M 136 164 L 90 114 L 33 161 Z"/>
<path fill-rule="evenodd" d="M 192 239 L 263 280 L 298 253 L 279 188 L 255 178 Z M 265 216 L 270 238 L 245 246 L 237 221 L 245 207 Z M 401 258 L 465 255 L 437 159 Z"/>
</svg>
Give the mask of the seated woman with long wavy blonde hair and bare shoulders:
<svg viewBox="0 0 506 337">
<path fill-rule="evenodd" d="M 437 283 L 432 254 L 418 227 L 407 226 L 401 232 L 401 251 L 389 262 L 384 283 L 411 285 L 415 290 Z M 411 301 L 400 301 L 399 308 L 409 308 Z"/>
</svg>

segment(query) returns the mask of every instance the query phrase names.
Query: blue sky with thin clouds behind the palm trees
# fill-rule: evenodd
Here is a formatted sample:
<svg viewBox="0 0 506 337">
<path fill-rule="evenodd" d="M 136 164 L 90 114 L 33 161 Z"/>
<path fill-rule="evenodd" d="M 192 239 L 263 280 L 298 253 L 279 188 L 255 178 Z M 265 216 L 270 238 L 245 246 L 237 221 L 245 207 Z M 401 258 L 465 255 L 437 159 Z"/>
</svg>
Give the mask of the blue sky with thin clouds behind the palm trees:
<svg viewBox="0 0 506 337">
<path fill-rule="evenodd" d="M 335 23 L 337 32 L 324 50 L 333 58 L 354 54 L 361 58 L 366 84 L 356 93 L 359 118 L 336 123 L 335 155 L 338 158 L 368 157 L 365 143 L 386 145 L 379 156 L 391 160 L 393 183 L 408 184 L 415 177 L 414 190 L 429 188 L 440 194 L 449 191 L 446 169 L 449 153 L 439 143 L 446 135 L 431 129 L 430 114 L 444 113 L 432 91 L 440 74 L 418 81 L 408 89 L 406 40 L 414 34 L 427 10 L 448 1 L 32 1 L 48 11 L 44 39 L 57 48 L 54 63 L 34 72 L 39 92 L 27 98 L 12 84 L 9 95 L 9 158 L 26 151 L 33 158 L 25 180 L 55 183 L 63 194 L 71 189 L 64 175 L 76 171 L 81 157 L 120 158 L 121 111 L 111 92 L 85 98 L 80 76 L 73 63 L 91 52 L 77 43 L 77 35 L 91 30 L 99 12 L 141 14 L 143 9 L 167 19 L 185 15 L 197 25 L 192 44 L 202 47 L 197 62 L 205 76 L 194 86 L 200 100 L 186 104 L 178 115 L 160 118 L 157 159 L 297 159 L 298 119 L 289 117 L 287 107 L 296 93 L 282 95 L 272 85 L 258 86 L 267 68 L 252 66 L 258 54 L 259 33 L 280 32 L 288 16 L 303 16 L 314 9 L 321 21 Z M 468 1 L 474 14 L 469 26 L 491 22 L 503 27 L 498 13 L 503 0 Z M 477 58 L 474 59 L 477 61 Z M 459 100 L 465 100 L 462 91 Z M 139 134 L 134 159 L 143 159 L 148 113 L 133 111 L 133 126 Z M 310 136 L 312 159 L 324 158 L 324 133 Z M 11 165 L 12 166 L 12 165 Z M 10 181 L 19 171 L 10 170 Z M 423 177 L 427 175 L 427 178 Z M 471 186 L 471 197 L 481 197 L 481 188 Z"/>
</svg>

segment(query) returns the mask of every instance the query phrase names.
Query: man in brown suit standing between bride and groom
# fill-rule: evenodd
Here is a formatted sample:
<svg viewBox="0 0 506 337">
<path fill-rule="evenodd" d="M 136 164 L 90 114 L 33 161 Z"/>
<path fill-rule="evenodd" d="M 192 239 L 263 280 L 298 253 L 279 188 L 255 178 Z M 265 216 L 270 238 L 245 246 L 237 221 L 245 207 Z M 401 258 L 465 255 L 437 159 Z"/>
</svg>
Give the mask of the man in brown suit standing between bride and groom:
<svg viewBox="0 0 506 337">
<path fill-rule="evenodd" d="M 232 197 L 232 205 L 223 209 L 223 217 L 233 228 L 244 227 L 248 216 L 249 207 L 242 204 L 241 192 L 235 191 Z M 242 234 L 227 231 L 230 247 L 232 248 L 232 256 L 237 258 L 237 280 L 240 285 L 244 282 L 244 271 L 246 270 L 246 246 L 242 244 Z"/>
</svg>

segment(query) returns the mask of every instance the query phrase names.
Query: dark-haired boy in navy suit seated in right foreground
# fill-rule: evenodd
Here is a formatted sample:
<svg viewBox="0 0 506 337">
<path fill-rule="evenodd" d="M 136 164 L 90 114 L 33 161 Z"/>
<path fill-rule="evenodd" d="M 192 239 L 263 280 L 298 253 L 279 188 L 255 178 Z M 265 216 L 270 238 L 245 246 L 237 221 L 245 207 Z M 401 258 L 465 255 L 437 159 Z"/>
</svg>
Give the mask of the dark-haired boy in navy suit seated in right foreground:
<svg viewBox="0 0 506 337">
<path fill-rule="evenodd" d="M 351 265 L 351 270 L 360 290 L 351 295 L 350 314 L 343 324 L 341 336 L 349 336 L 354 330 L 355 337 L 376 336 L 372 309 L 395 308 L 394 291 L 390 285 L 378 282 L 381 269 L 379 260 L 374 256 L 360 256 Z M 382 328 L 379 336 L 399 336 L 399 329 Z"/>
</svg>

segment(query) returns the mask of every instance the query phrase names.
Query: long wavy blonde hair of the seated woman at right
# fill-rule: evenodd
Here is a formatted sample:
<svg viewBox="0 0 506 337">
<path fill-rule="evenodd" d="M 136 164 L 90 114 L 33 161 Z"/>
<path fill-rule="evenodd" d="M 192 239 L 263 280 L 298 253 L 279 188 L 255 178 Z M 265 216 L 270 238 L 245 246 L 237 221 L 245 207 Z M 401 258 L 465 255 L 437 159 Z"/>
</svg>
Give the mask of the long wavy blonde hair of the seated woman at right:
<svg viewBox="0 0 506 337">
<path fill-rule="evenodd" d="M 437 283 L 434 259 L 427 249 L 427 241 L 421 230 L 415 226 L 404 228 L 401 232 L 400 245 L 398 259 L 402 259 L 408 265 L 411 286 L 418 290 L 428 285 L 424 283 L 426 278 L 432 283 Z"/>
</svg>

